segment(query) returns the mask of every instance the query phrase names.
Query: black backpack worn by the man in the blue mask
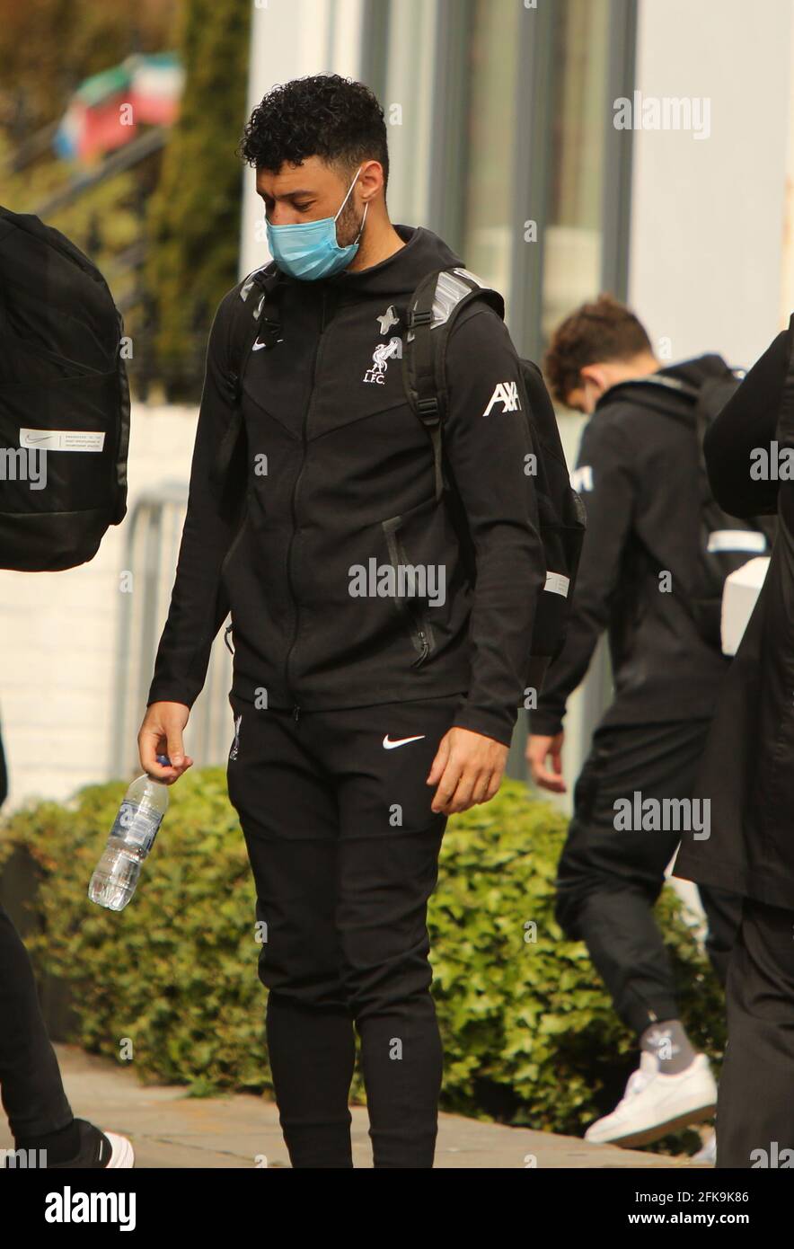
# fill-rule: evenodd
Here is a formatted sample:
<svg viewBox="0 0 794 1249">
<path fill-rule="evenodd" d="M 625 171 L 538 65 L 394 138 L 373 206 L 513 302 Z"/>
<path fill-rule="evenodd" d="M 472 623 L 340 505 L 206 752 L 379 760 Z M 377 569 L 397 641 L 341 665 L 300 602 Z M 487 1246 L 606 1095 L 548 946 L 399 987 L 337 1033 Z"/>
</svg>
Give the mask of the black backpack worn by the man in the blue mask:
<svg viewBox="0 0 794 1249">
<path fill-rule="evenodd" d="M 241 312 L 232 327 L 230 350 L 235 366 L 230 382 L 235 391 L 236 406 L 213 471 L 215 486 L 225 493 L 225 497 L 238 497 L 238 492 L 233 490 L 228 490 L 226 495 L 226 488 L 232 457 L 238 450 L 242 432 L 240 398 L 245 363 L 256 340 L 270 347 L 280 337 L 278 286 L 280 274 L 271 262 L 248 275 L 240 290 L 241 309 L 250 309 L 250 312 L 248 315 Z M 251 292 L 258 297 L 250 300 Z M 443 458 L 447 342 L 454 318 L 472 300 L 482 300 L 501 317 L 504 316 L 502 296 L 483 286 L 466 269 L 442 269 L 422 279 L 408 301 L 407 323 L 402 333 L 402 368 L 408 402 L 424 426 L 431 442 L 436 498 L 441 500 L 446 492 L 451 520 L 456 526 L 462 556 L 473 581 L 476 575 L 473 543 L 454 483 L 444 472 Z M 541 593 L 538 600 L 527 673 L 528 687 L 539 691 L 548 664 L 559 654 L 566 639 L 584 537 L 586 513 L 582 500 L 571 486 L 557 417 L 541 371 L 529 360 L 522 360 L 521 367 L 528 401 L 524 416 L 537 460 L 532 467 L 547 567 L 546 592 Z"/>
</svg>

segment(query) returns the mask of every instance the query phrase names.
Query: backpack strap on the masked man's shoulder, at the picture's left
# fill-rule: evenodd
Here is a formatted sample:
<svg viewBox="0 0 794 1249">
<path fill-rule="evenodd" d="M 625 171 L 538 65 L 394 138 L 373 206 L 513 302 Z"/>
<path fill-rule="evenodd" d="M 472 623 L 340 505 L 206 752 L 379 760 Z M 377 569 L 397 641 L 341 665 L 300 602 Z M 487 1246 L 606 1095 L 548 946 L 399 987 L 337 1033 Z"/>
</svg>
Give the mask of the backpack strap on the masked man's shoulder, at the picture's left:
<svg viewBox="0 0 794 1249">
<path fill-rule="evenodd" d="M 228 351 L 231 361 L 228 382 L 235 406 L 210 472 L 210 482 L 218 491 L 223 488 L 235 448 L 242 435 L 242 378 L 253 343 L 261 340 L 267 350 L 271 350 L 281 341 L 280 284 L 281 271 L 271 261 L 262 269 L 253 270 L 240 287 L 241 304 L 235 310 Z"/>
</svg>

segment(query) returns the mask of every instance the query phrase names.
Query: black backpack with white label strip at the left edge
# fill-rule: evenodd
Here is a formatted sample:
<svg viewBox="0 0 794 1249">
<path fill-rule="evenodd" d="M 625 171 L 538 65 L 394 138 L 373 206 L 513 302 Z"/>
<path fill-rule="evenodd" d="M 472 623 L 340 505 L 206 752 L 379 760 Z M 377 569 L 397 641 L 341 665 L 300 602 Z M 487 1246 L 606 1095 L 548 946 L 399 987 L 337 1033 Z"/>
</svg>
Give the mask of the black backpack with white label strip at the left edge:
<svg viewBox="0 0 794 1249">
<path fill-rule="evenodd" d="M 0 206 L 0 568 L 74 568 L 124 520 L 122 333 L 87 256 Z"/>
</svg>

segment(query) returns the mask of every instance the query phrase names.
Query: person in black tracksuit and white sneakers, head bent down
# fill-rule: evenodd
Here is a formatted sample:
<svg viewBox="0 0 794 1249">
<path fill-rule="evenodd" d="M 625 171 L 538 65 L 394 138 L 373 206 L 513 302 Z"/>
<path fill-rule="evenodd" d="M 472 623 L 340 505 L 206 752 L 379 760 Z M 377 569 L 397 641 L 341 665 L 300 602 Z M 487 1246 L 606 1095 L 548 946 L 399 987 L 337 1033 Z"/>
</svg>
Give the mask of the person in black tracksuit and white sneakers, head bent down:
<svg viewBox="0 0 794 1249">
<path fill-rule="evenodd" d="M 702 638 L 687 606 L 699 543 L 692 403 L 664 392 L 659 411 L 658 395 L 649 407 L 617 386 L 652 373 L 699 386 L 725 371 L 714 355 L 660 367 L 639 321 L 607 296 L 563 322 L 547 357 L 557 397 L 591 415 L 573 473 L 588 525 L 566 646 L 529 713 L 527 758 L 537 783 L 564 789 L 566 703 L 608 631 L 614 698 L 576 786 L 557 917 L 569 937 L 587 943 L 643 1055 L 630 1097 L 588 1129 L 596 1142 L 647 1143 L 673 1120 L 703 1118 L 715 1097 L 707 1059 L 695 1055 L 680 1023 L 653 917 L 680 834 L 617 831 L 614 804 L 635 792 L 659 801 L 690 796 L 728 659 Z M 739 903 L 724 888 L 703 887 L 700 897 L 707 949 L 724 980 Z"/>
</svg>

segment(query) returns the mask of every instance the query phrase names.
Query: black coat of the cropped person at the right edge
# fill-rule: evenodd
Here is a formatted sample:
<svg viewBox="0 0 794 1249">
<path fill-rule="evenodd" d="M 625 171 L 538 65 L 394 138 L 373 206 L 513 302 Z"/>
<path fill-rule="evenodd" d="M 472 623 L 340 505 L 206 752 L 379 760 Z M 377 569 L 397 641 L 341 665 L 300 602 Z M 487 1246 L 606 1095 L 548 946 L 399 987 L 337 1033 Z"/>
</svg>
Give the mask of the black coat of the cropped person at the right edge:
<svg viewBox="0 0 794 1249">
<path fill-rule="evenodd" d="M 720 692 L 694 793 L 709 837 L 684 833 L 674 874 L 794 909 L 794 316 L 753 365 L 704 440 L 729 515 L 778 516 L 762 592 Z M 775 471 L 759 476 L 757 450 Z M 782 457 L 780 462 L 778 456 Z"/>
</svg>

